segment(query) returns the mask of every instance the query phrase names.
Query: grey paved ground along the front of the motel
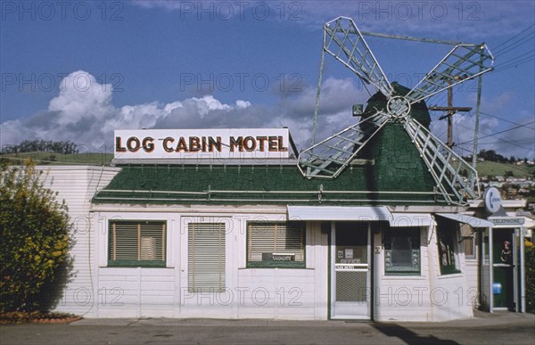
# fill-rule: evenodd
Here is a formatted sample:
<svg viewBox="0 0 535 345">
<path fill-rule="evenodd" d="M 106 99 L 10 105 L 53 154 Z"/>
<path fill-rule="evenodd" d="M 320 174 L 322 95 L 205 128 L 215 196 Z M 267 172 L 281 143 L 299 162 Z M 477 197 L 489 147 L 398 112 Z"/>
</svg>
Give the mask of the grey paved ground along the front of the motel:
<svg viewBox="0 0 535 345">
<path fill-rule="evenodd" d="M 477 313 L 446 323 L 83 319 L 0 326 L 6 344 L 535 344 L 535 316 Z"/>
</svg>

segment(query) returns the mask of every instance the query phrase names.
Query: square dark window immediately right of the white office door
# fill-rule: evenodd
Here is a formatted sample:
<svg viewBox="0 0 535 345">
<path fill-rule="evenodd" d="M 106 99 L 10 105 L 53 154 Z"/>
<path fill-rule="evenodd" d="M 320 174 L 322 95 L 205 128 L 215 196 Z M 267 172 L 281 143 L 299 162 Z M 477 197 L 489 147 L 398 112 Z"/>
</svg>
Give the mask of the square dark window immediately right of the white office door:
<svg viewBox="0 0 535 345">
<path fill-rule="evenodd" d="M 384 273 L 420 274 L 419 227 L 391 227 L 384 230 Z"/>
</svg>

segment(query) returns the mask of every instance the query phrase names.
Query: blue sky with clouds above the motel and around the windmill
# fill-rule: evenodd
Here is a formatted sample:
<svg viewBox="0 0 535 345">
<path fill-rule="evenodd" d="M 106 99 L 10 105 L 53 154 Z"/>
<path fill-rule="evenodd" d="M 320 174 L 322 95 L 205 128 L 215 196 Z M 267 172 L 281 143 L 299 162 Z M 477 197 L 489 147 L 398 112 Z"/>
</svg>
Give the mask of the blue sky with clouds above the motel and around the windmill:
<svg viewBox="0 0 535 345">
<path fill-rule="evenodd" d="M 535 156 L 533 1 L 0 4 L 2 145 L 40 137 L 111 151 L 114 129 L 287 126 L 306 148 L 322 25 L 344 15 L 366 31 L 485 42 L 497 69 L 483 78 L 480 148 Z M 449 50 L 366 40 L 391 81 L 406 86 Z M 354 123 L 351 104 L 368 97 L 333 59 L 323 81 L 317 138 Z M 454 105 L 474 107 L 475 89 L 457 87 Z M 432 131 L 444 138 L 440 115 Z M 474 111 L 454 121 L 457 151 L 469 154 Z"/>
</svg>

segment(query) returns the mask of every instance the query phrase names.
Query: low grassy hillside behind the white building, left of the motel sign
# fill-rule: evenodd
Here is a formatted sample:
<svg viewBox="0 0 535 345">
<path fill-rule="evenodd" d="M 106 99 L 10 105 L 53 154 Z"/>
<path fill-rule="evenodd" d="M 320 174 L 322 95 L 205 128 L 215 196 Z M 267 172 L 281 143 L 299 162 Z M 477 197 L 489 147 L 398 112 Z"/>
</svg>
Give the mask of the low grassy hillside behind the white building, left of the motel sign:
<svg viewBox="0 0 535 345">
<path fill-rule="evenodd" d="M 26 160 L 31 158 L 38 165 L 69 165 L 69 164 L 86 164 L 86 165 L 110 165 L 113 154 L 99 152 L 84 153 L 54 153 L 54 152 L 23 152 L 23 153 L 3 153 L 0 156 L 3 160 L 12 162 Z"/>
</svg>

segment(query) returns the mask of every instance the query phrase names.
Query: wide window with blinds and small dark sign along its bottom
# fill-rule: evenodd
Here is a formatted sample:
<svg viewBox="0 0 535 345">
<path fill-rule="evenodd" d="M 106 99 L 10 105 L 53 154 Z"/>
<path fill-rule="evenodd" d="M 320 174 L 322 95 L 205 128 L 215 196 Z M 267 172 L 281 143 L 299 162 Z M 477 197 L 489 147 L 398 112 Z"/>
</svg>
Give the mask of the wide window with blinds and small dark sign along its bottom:
<svg viewBox="0 0 535 345">
<path fill-rule="evenodd" d="M 305 224 L 249 222 L 247 267 L 305 267 Z"/>
</svg>

